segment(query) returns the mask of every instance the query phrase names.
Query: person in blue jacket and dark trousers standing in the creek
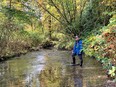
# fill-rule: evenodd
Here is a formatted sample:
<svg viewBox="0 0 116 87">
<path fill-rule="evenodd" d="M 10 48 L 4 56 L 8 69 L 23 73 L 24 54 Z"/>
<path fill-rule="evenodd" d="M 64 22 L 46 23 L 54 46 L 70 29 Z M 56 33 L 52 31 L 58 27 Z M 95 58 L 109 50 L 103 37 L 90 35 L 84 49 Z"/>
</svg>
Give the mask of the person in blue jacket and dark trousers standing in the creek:
<svg viewBox="0 0 116 87">
<path fill-rule="evenodd" d="M 75 65 L 76 64 L 76 59 L 75 56 L 78 55 L 79 59 L 81 60 L 80 62 L 80 66 L 83 66 L 83 58 L 82 58 L 82 52 L 83 51 L 83 46 L 82 46 L 82 40 L 78 37 L 75 36 L 75 44 L 72 50 L 72 64 Z"/>
</svg>

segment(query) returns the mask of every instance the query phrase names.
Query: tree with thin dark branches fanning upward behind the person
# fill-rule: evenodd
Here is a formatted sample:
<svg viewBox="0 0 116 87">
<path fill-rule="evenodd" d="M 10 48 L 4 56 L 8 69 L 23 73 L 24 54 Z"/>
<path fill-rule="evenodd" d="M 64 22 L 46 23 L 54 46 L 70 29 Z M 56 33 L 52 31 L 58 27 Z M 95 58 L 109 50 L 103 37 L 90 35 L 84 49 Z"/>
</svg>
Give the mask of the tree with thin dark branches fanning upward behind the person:
<svg viewBox="0 0 116 87">
<path fill-rule="evenodd" d="M 74 35 L 79 33 L 79 16 L 82 15 L 86 0 L 38 0 L 37 3 L 60 22 L 66 33 Z"/>
</svg>

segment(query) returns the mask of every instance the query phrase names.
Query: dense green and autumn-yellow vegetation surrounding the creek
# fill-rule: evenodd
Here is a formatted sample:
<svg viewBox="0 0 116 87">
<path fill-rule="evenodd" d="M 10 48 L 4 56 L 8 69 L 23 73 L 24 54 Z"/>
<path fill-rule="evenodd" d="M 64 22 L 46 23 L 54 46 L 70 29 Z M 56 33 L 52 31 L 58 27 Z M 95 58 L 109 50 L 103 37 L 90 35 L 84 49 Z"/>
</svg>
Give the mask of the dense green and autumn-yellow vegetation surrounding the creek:
<svg viewBox="0 0 116 87">
<path fill-rule="evenodd" d="M 79 35 L 116 78 L 115 0 L 1 0 L 0 21 L 1 60 L 40 46 L 71 50 Z"/>
</svg>

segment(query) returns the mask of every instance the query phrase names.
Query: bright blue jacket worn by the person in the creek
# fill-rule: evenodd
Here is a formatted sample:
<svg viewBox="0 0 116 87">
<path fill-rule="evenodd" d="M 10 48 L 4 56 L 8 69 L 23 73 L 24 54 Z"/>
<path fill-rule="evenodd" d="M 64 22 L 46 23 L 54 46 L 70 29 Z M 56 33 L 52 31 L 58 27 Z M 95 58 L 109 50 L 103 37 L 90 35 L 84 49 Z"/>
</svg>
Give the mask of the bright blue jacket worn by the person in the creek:
<svg viewBox="0 0 116 87">
<path fill-rule="evenodd" d="M 81 54 L 83 49 L 83 45 L 82 45 L 82 40 L 80 39 L 79 41 L 76 41 L 73 47 L 73 53 L 74 54 Z"/>
</svg>

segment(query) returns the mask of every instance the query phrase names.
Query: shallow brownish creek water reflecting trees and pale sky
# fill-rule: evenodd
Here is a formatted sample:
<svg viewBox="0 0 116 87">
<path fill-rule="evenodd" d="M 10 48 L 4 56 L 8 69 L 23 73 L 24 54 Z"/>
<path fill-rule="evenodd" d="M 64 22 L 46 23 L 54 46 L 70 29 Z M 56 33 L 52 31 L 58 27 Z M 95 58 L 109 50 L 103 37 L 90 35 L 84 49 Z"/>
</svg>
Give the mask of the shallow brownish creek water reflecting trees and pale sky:
<svg viewBox="0 0 116 87">
<path fill-rule="evenodd" d="M 77 58 L 77 63 L 79 63 Z M 41 50 L 0 63 L 0 87 L 104 87 L 101 65 L 84 57 L 71 66 L 71 52 Z"/>
</svg>

